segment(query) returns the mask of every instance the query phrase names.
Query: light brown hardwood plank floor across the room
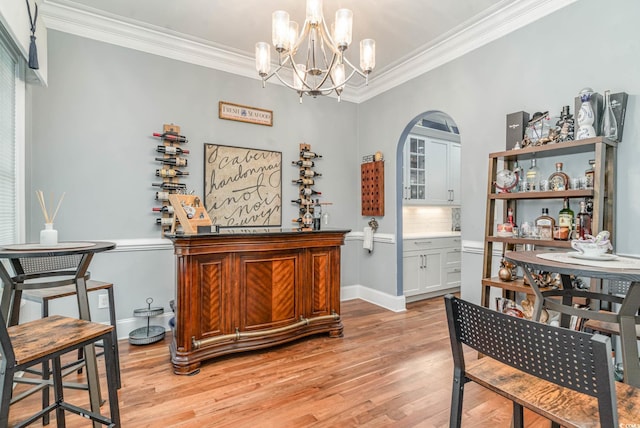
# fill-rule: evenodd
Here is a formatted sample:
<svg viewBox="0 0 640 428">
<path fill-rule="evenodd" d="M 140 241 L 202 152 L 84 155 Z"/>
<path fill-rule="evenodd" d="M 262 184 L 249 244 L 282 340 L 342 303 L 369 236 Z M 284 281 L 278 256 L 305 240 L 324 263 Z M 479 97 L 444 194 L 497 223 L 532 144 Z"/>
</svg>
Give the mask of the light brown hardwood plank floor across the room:
<svg viewBox="0 0 640 428">
<path fill-rule="evenodd" d="M 173 374 L 168 337 L 146 346 L 121 341 L 122 426 L 448 426 L 452 361 L 442 298 L 411 303 L 402 313 L 343 302 L 342 319 L 342 338 L 312 336 L 222 357 L 194 376 Z M 87 401 L 85 391 L 65 394 L 79 405 Z M 39 397 L 15 404 L 11 420 L 38 405 Z M 476 384 L 465 389 L 464 410 L 465 427 L 510 426 L 510 402 Z M 549 426 L 528 411 L 525 423 Z M 91 424 L 68 415 L 67 426 Z"/>
</svg>

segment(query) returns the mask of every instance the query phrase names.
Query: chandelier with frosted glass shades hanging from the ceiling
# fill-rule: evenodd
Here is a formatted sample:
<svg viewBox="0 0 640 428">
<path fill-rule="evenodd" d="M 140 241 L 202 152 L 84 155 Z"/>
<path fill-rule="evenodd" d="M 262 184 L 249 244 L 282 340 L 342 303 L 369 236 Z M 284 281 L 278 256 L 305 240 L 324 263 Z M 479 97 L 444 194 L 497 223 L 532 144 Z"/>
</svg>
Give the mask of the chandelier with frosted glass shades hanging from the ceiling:
<svg viewBox="0 0 640 428">
<path fill-rule="evenodd" d="M 307 16 L 300 32 L 287 12 L 273 12 L 271 36 L 278 53 L 278 67 L 269 74 L 271 48 L 266 42 L 256 43 L 256 69 L 262 77 L 262 87 L 276 76 L 283 85 L 298 92 L 302 103 L 303 95 L 315 98 L 334 91 L 340 101 L 345 84 L 356 74 L 368 83 L 369 73 L 376 65 L 376 42 L 373 39 L 360 42 L 360 70 L 354 67 L 344 56 L 351 44 L 352 25 L 353 12 L 338 9 L 329 31 L 322 14 L 322 0 L 307 0 Z M 296 60 L 299 51 L 299 60 Z M 281 76 L 284 70 L 291 72 L 289 81 Z"/>
</svg>

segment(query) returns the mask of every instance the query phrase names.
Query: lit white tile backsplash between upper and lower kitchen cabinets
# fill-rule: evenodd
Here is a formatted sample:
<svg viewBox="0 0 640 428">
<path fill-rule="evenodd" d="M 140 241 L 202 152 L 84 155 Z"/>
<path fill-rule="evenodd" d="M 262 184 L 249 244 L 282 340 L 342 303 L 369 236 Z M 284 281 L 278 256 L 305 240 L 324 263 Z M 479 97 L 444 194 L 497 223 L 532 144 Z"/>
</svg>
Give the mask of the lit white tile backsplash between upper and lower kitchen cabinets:
<svg viewBox="0 0 640 428">
<path fill-rule="evenodd" d="M 460 230 L 460 208 L 405 206 L 402 222 L 404 233 Z"/>
</svg>

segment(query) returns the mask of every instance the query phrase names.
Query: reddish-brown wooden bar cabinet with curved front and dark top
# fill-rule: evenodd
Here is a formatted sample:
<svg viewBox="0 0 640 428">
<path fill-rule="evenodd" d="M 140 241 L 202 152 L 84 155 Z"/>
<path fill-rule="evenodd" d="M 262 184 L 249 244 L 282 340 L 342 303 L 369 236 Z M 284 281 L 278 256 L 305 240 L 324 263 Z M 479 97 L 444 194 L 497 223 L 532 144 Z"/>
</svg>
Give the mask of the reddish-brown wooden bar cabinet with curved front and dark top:
<svg viewBox="0 0 640 428">
<path fill-rule="evenodd" d="M 176 254 L 174 373 L 303 336 L 342 336 L 340 247 L 349 230 L 167 235 Z"/>
</svg>

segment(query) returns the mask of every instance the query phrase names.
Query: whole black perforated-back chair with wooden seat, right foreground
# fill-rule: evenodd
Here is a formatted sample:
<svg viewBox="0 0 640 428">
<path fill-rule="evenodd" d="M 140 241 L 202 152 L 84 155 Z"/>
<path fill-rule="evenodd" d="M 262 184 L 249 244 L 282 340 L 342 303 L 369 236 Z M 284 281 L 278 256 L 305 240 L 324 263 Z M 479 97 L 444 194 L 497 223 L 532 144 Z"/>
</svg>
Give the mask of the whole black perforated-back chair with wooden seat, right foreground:
<svg viewBox="0 0 640 428">
<path fill-rule="evenodd" d="M 527 401 L 519 397 L 518 392 L 514 392 L 531 393 L 531 381 L 538 379 L 543 379 L 545 385 L 559 385 L 564 388 L 562 391 L 572 390 L 595 397 L 597 408 L 593 412 L 597 410 L 599 413 L 600 425 L 604 428 L 618 427 L 616 386 L 608 337 L 512 317 L 451 295 L 445 297 L 445 306 L 454 360 L 451 427 L 461 426 L 464 385 L 469 381 L 479 383 L 512 400 L 513 426 L 516 428 L 523 426 L 523 407 L 551 419 L 552 426 L 560 426 L 565 422 L 562 412 L 566 410 L 566 413 L 570 413 L 571 406 L 575 407 L 576 403 L 568 403 L 564 410 L 557 403 L 551 403 L 553 411 L 549 411 L 542 407 L 548 404 L 544 399 L 535 402 L 530 397 L 531 401 Z M 463 344 L 485 357 L 465 362 Z M 483 363 L 494 360 L 499 362 L 493 366 L 494 373 L 498 371 L 498 367 L 506 367 L 509 371 L 502 377 L 496 376 L 492 383 L 479 377 L 479 373 Z M 501 390 L 510 381 L 513 383 L 516 377 L 520 385 L 508 392 Z M 634 391 L 635 395 L 629 401 L 637 400 L 637 389 L 628 385 L 620 387 Z M 547 386 L 544 393 L 553 396 L 551 389 Z M 561 394 L 560 392 L 559 395 Z M 632 406 L 635 406 L 633 410 L 637 412 L 638 404 Z"/>
</svg>

